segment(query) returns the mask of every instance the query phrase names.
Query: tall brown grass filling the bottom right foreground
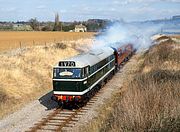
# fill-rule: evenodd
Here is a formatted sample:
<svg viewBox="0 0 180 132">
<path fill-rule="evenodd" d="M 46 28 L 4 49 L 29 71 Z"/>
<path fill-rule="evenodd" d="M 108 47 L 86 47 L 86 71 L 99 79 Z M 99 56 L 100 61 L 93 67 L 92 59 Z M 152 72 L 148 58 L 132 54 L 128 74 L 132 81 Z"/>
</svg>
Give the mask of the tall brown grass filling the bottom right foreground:
<svg viewBox="0 0 180 132">
<path fill-rule="evenodd" d="M 180 78 L 166 72 L 136 76 L 112 112 L 112 131 L 179 131 Z"/>
</svg>

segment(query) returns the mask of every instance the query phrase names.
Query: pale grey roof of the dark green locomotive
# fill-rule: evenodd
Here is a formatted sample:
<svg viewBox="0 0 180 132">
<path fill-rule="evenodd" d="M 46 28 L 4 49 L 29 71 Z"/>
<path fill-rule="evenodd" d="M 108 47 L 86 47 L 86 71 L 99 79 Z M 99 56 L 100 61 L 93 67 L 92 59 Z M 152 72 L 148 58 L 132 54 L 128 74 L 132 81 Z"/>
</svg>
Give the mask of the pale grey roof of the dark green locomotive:
<svg viewBox="0 0 180 132">
<path fill-rule="evenodd" d="M 101 49 L 93 49 L 87 53 L 76 55 L 72 58 L 68 58 L 62 61 L 73 61 L 76 63 L 75 67 L 82 68 L 88 65 L 92 66 L 112 55 L 113 53 L 114 50 L 112 48 L 102 47 Z"/>
</svg>

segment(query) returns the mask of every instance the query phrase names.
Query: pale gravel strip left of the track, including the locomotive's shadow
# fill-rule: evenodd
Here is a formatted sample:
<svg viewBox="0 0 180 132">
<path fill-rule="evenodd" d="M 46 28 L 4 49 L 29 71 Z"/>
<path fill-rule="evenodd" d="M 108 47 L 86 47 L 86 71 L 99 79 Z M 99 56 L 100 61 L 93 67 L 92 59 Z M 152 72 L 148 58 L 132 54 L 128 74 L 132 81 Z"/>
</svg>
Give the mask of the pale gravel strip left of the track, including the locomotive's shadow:
<svg viewBox="0 0 180 132">
<path fill-rule="evenodd" d="M 35 100 L 21 110 L 0 121 L 1 132 L 22 132 L 37 123 L 41 118 L 52 112 L 57 104 L 50 99 L 52 92 Z"/>
</svg>

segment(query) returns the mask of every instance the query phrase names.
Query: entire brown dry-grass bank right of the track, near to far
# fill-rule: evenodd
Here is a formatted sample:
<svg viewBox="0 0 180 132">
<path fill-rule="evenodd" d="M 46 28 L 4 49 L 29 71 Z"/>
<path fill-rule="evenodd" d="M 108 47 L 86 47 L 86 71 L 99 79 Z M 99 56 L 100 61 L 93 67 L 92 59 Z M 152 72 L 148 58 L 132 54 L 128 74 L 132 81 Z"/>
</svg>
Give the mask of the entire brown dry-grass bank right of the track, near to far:
<svg viewBox="0 0 180 132">
<path fill-rule="evenodd" d="M 180 49 L 172 40 L 152 47 L 142 70 L 126 82 L 103 131 L 180 131 Z"/>
</svg>

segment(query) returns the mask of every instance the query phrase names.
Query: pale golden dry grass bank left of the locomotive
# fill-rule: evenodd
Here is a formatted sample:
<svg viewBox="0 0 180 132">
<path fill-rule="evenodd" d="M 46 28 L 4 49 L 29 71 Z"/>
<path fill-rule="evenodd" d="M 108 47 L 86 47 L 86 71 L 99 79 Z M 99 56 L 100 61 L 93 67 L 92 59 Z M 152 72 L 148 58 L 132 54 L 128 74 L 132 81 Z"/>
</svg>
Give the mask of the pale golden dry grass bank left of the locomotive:
<svg viewBox="0 0 180 132">
<path fill-rule="evenodd" d="M 52 90 L 52 67 L 91 40 L 15 49 L 0 55 L 0 117 Z"/>
</svg>

